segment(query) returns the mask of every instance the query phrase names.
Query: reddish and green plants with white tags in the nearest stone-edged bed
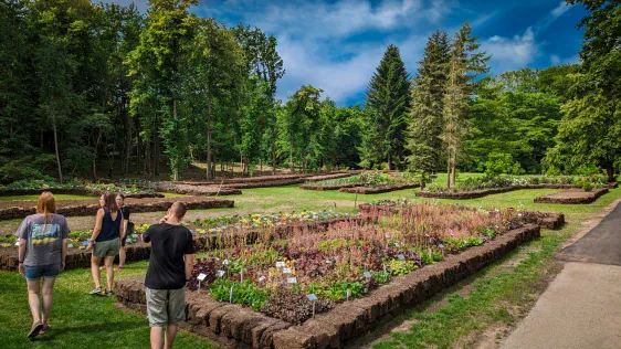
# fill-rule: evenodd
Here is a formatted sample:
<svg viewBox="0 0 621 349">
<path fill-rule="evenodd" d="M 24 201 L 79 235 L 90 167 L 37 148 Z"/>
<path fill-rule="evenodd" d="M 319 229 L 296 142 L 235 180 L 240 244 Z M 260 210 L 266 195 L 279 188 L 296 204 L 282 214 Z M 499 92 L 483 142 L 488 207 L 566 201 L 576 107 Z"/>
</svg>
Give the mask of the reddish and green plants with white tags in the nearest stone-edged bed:
<svg viewBox="0 0 621 349">
<path fill-rule="evenodd" d="M 282 221 L 269 215 L 245 220 L 234 231 L 221 228 L 222 234 L 250 233 L 263 222 Z M 312 316 L 313 302 L 315 313 L 327 311 L 336 302 L 364 297 L 394 276 L 519 226 L 508 210 L 404 204 L 397 214 L 341 221 L 327 230 L 308 225 L 287 239 L 261 236 L 251 245 L 222 239 L 218 250 L 197 260 L 188 287 L 197 289 L 200 276 L 202 289 L 217 300 L 301 324 Z"/>
</svg>

